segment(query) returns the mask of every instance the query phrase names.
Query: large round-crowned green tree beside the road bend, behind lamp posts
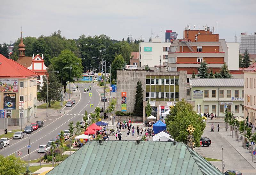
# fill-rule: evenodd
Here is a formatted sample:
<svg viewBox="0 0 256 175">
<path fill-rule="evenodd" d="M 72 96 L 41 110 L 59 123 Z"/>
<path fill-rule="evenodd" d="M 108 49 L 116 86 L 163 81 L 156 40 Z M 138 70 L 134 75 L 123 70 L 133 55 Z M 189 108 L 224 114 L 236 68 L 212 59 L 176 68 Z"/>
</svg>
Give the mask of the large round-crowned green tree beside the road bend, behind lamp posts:
<svg viewBox="0 0 256 175">
<path fill-rule="evenodd" d="M 76 65 L 78 63 L 78 65 Z M 68 49 L 61 51 L 58 57 L 54 57 L 51 59 L 51 64 L 54 67 L 54 70 L 60 71 L 58 78 L 61 81 L 61 70 L 64 67 L 70 67 L 71 65 L 71 82 L 74 82 L 73 77 L 81 77 L 83 72 L 82 61 L 80 58 L 76 57 L 76 55 Z M 64 91 L 66 91 L 67 81 L 69 81 L 69 69 L 65 68 L 62 71 L 62 85 L 64 85 Z"/>
</svg>

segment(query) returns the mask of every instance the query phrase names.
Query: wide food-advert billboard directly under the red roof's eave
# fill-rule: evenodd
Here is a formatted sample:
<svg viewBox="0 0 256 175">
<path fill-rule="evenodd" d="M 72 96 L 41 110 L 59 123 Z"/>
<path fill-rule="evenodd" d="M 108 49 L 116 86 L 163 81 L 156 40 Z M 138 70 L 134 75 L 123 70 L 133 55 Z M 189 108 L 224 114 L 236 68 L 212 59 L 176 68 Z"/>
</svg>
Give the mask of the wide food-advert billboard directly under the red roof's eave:
<svg viewBox="0 0 256 175">
<path fill-rule="evenodd" d="M 0 79 L 0 92 L 18 92 L 18 79 Z"/>
</svg>

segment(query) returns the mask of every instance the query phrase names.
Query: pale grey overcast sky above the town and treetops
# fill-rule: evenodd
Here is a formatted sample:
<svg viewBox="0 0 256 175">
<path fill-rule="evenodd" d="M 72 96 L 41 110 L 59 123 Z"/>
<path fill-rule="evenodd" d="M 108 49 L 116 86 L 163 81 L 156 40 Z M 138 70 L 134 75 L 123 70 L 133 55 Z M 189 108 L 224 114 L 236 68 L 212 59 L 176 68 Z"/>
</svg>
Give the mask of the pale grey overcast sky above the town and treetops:
<svg viewBox="0 0 256 175">
<path fill-rule="evenodd" d="M 58 29 L 66 38 L 81 34 L 106 34 L 111 39 L 126 39 L 131 33 L 148 41 L 152 33 L 161 35 L 165 30 L 178 33 L 187 24 L 203 28 L 205 23 L 214 27 L 220 39 L 237 42 L 241 32 L 256 32 L 255 0 L 8 0 L 0 6 L 0 43 L 23 36 L 48 36 Z"/>
</svg>

